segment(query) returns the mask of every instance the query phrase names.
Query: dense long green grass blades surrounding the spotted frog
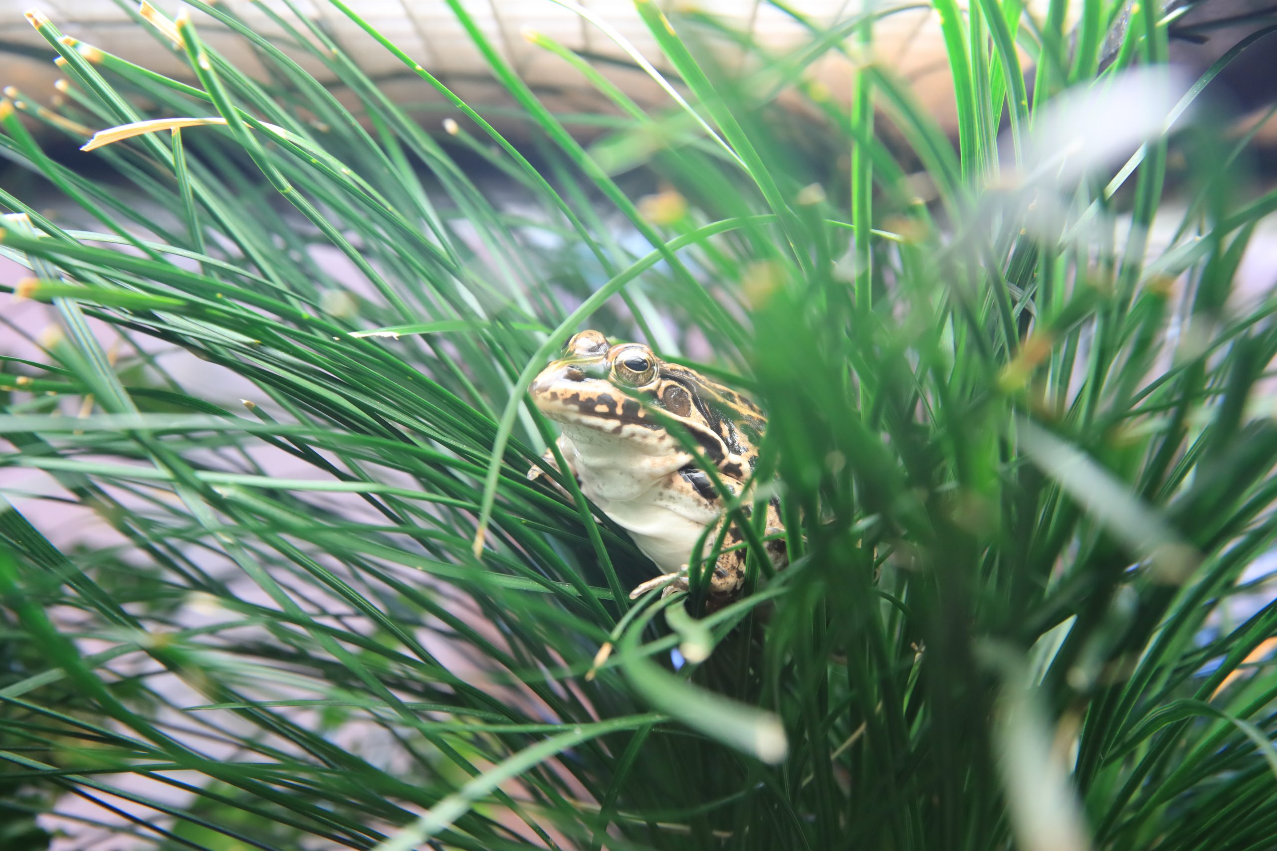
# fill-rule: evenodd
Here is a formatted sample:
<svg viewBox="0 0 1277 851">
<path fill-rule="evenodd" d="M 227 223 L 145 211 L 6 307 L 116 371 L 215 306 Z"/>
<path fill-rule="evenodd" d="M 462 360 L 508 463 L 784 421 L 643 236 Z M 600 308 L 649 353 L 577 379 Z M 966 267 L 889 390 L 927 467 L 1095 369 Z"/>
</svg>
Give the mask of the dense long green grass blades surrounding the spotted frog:
<svg viewBox="0 0 1277 851">
<path fill-rule="evenodd" d="M 135 26 L 193 84 L 37 19 L 64 103 L 0 107 L 32 174 L 0 189 L 0 254 L 31 270 L 3 288 L 60 329 L 9 322 L 0 347 L 0 475 L 57 486 L 0 494 L 0 846 L 43 847 L 31 819 L 70 799 L 215 851 L 1277 845 L 1277 301 L 1235 292 L 1277 193 L 1249 137 L 1167 137 L 1120 101 L 1166 61 L 1156 4 L 1103 64 L 1110 0 L 1077 36 L 1059 0 L 937 1 L 956 147 L 865 61 L 905 5 L 790 11 L 810 42 L 746 45 L 742 77 L 705 47 L 719 22 L 638 3 L 661 108 L 533 34 L 604 119 L 545 108 L 460 3 L 513 110 L 332 0 L 451 102 L 451 145 L 304 18 L 278 18 L 287 46 L 355 112 L 236 4 L 188 5 Z M 849 106 L 807 79 L 838 52 Z M 1073 84 L 1069 126 L 1119 98 L 1148 133 L 1061 168 L 1036 130 Z M 160 116 L 223 121 L 74 159 L 23 122 L 80 144 Z M 54 194 L 75 214 L 46 217 Z M 586 327 L 766 408 L 788 569 L 751 556 L 752 593 L 709 615 L 704 579 L 631 602 L 654 566 L 572 482 L 526 480 L 553 438 L 526 387 Z M 92 545 L 49 519 L 72 508 Z"/>
</svg>

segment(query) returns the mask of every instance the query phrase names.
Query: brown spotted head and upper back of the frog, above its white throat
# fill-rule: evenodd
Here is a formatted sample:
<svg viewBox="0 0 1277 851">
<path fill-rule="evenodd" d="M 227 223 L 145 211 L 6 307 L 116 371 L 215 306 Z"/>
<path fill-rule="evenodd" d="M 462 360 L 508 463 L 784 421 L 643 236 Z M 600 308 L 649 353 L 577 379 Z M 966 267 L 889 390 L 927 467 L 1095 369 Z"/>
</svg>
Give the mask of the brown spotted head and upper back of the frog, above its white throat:
<svg viewBox="0 0 1277 851">
<path fill-rule="evenodd" d="M 580 440 L 619 440 L 642 454 L 684 454 L 665 424 L 682 424 L 728 476 L 757 458 L 762 415 L 747 398 L 699 373 L 668 364 L 637 343 L 609 346 L 596 330 L 567 341 L 530 388 L 545 416 Z M 687 455 L 690 458 L 690 455 Z"/>
</svg>

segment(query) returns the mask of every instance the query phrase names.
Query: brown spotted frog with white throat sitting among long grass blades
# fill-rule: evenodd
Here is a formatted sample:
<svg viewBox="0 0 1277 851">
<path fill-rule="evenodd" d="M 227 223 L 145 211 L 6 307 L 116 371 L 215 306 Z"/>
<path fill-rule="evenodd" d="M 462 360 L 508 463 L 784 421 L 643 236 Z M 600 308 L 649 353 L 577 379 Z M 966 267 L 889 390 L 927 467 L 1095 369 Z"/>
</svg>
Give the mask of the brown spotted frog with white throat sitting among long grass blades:
<svg viewBox="0 0 1277 851">
<path fill-rule="evenodd" d="M 743 536 L 725 517 L 724 494 L 700 464 L 713 464 L 725 496 L 741 500 L 742 512 L 751 515 L 748 495 L 766 429 L 759 406 L 696 370 L 661 360 L 647 346 L 610 344 L 598 330 L 568 339 L 529 394 L 561 426 L 558 448 L 581 492 L 663 572 L 637 586 L 631 598 L 660 587 L 665 596 L 686 591 L 697 538 L 706 535 L 709 552 L 720 532 L 723 551 L 710 573 L 707 606 L 720 609 L 741 596 Z M 686 430 L 702 461 L 670 434 L 670 424 Z M 547 450 L 543 463 L 558 471 L 553 452 Z M 529 471 L 534 481 L 541 475 L 541 466 Z M 765 507 L 766 556 L 783 568 L 779 500 Z"/>
</svg>

